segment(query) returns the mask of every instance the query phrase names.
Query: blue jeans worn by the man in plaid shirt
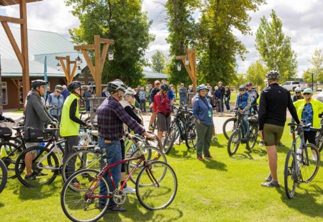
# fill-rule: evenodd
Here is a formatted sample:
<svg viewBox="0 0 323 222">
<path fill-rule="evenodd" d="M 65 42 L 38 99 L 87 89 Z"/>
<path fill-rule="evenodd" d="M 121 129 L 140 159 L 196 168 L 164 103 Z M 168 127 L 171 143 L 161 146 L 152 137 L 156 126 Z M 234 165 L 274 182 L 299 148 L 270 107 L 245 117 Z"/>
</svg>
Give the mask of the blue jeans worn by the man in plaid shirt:
<svg viewBox="0 0 323 222">
<path fill-rule="evenodd" d="M 112 141 L 112 142 L 105 142 L 104 138 L 100 137 L 99 138 L 99 147 L 105 148 L 105 157 L 106 160 L 109 164 L 113 164 L 115 162 L 121 161 L 122 160 L 122 155 L 121 155 L 121 144 L 120 141 Z M 101 168 L 103 165 L 103 159 L 100 161 L 101 163 Z M 116 189 L 118 188 L 118 184 L 120 182 L 120 174 L 121 174 L 121 164 L 116 165 L 115 167 L 111 168 L 111 174 L 112 174 L 112 179 L 116 185 Z M 115 188 L 112 185 L 111 178 L 109 177 L 109 173 L 105 173 L 103 177 L 107 180 L 107 183 L 109 185 L 109 190 L 110 192 L 113 192 Z M 109 195 L 106 190 L 106 186 L 102 180 L 100 180 L 100 195 Z M 105 198 L 99 198 L 99 203 L 101 205 L 105 205 L 107 199 Z M 115 204 L 113 198 L 110 199 L 109 205 Z"/>
</svg>

